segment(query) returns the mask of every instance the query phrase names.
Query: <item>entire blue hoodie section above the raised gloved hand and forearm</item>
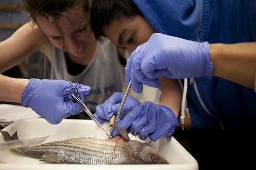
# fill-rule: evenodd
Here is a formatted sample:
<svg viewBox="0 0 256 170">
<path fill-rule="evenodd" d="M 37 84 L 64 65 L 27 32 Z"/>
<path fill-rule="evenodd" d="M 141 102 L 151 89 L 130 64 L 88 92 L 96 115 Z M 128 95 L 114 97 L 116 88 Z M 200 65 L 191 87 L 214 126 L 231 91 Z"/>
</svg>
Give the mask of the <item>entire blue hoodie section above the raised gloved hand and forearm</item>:
<svg viewBox="0 0 256 170">
<path fill-rule="evenodd" d="M 195 41 L 256 39 L 256 1 L 133 0 L 157 32 Z"/>
</svg>

